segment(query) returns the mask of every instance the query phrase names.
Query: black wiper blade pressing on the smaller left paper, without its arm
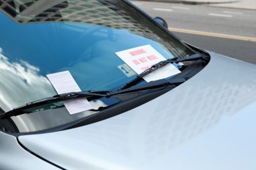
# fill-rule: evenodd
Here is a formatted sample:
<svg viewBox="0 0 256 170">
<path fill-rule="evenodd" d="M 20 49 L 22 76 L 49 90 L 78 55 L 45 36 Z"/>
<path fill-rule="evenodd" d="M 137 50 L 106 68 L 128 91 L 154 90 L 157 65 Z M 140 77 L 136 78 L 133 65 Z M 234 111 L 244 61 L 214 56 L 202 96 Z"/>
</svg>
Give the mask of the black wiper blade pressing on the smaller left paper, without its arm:
<svg viewBox="0 0 256 170">
<path fill-rule="evenodd" d="M 22 105 L 18 108 L 14 108 L 13 110 L 10 110 L 9 112 L 5 112 L 0 115 L 1 119 L 9 118 L 11 116 L 18 116 L 21 114 L 26 114 L 22 112 L 22 110 L 26 110 L 28 108 L 34 108 L 38 105 L 43 105 L 47 103 L 53 103 L 58 101 L 65 101 L 70 99 L 77 99 L 82 97 L 108 97 L 110 95 L 111 91 L 80 91 L 80 92 L 71 92 L 71 93 L 63 93 L 59 95 L 54 95 L 53 97 L 47 97 L 44 99 L 40 99 L 37 101 L 32 101 L 30 103 L 26 103 L 26 105 Z"/>
</svg>

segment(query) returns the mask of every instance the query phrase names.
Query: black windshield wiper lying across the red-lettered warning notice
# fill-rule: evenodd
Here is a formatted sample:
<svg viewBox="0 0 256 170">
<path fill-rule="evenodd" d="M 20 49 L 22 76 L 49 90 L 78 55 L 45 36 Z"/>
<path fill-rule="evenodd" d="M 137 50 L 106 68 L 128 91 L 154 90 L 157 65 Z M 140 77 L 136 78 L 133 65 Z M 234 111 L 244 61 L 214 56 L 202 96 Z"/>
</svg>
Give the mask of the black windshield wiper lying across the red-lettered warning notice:
<svg viewBox="0 0 256 170">
<path fill-rule="evenodd" d="M 129 81 L 128 83 L 126 83 L 123 87 L 120 87 L 118 90 L 123 90 L 123 89 L 127 89 L 133 85 L 137 85 L 138 83 L 140 83 L 141 81 L 143 81 L 143 77 L 152 73 L 153 71 L 155 71 L 156 69 L 159 69 L 160 67 L 163 67 L 164 65 L 167 65 L 168 63 L 179 63 L 179 62 L 184 62 L 184 61 L 193 61 L 193 60 L 199 60 L 199 59 L 203 59 L 203 60 L 207 60 L 207 56 L 204 56 L 203 54 L 193 54 L 191 56 L 188 56 L 186 58 L 182 58 L 182 59 L 175 59 L 175 58 L 170 58 L 167 60 L 163 60 L 160 61 L 158 63 L 156 63 L 156 65 L 153 65 L 152 67 L 150 67 L 149 69 L 147 69 L 146 71 L 143 71 L 142 73 L 140 73 L 139 75 L 137 75 L 137 77 L 135 77 L 135 79 Z"/>
</svg>

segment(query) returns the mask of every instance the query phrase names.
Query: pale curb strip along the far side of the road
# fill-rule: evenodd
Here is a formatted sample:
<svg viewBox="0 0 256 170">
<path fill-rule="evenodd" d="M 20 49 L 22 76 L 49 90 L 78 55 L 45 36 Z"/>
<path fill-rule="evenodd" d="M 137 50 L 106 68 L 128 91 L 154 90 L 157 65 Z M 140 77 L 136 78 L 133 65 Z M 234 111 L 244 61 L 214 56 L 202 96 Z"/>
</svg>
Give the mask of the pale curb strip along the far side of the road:
<svg viewBox="0 0 256 170">
<path fill-rule="evenodd" d="M 224 2 L 210 2 L 210 1 L 204 1 L 204 2 L 199 2 L 199 1 L 185 1 L 185 0 L 137 0 L 137 1 L 154 1 L 154 2 L 164 2 L 164 3 L 183 3 L 183 4 L 189 4 L 189 5 L 209 5 L 209 4 L 221 4 L 221 3 L 236 3 L 239 0 L 230 0 L 230 1 L 224 1 Z"/>
</svg>

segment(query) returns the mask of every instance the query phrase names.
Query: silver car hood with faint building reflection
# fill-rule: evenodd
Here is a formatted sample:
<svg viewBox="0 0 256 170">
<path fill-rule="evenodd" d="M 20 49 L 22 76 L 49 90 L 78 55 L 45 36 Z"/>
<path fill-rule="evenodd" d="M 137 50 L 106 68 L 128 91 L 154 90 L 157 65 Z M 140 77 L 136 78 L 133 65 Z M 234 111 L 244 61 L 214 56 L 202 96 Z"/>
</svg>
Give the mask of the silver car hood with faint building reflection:
<svg viewBox="0 0 256 170">
<path fill-rule="evenodd" d="M 256 67 L 210 53 L 189 81 L 123 114 L 20 136 L 64 169 L 256 169 Z"/>
</svg>

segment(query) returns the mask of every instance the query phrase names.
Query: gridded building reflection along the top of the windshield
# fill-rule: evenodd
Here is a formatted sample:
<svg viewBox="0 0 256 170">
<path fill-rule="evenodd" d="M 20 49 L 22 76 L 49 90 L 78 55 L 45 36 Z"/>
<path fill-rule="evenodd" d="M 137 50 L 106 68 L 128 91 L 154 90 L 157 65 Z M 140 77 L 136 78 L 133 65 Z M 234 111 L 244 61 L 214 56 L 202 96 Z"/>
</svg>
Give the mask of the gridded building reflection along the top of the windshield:
<svg viewBox="0 0 256 170">
<path fill-rule="evenodd" d="M 32 23 L 84 23 L 97 26 L 126 29 L 132 34 L 144 36 L 160 44 L 166 49 L 179 50 L 163 35 L 158 37 L 154 32 L 159 28 L 148 25 L 143 18 L 135 15 L 126 3 L 117 0 L 91 0 L 91 1 L 66 1 L 66 0 L 1 0 L 0 8 L 19 24 Z M 179 54 L 172 50 L 174 55 Z"/>
</svg>

